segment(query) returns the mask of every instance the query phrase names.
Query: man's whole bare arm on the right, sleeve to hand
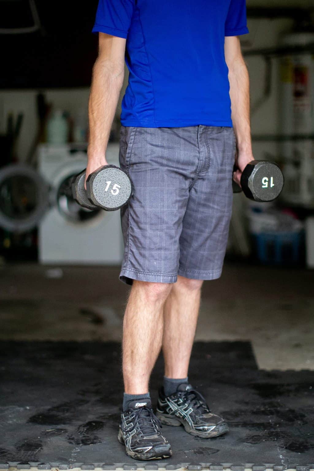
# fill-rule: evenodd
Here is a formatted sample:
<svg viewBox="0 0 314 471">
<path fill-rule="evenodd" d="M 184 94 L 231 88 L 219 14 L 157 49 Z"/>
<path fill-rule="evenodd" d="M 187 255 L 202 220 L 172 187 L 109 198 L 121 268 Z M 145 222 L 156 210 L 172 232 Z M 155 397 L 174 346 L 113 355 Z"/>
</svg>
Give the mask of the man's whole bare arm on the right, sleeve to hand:
<svg viewBox="0 0 314 471">
<path fill-rule="evenodd" d="M 225 36 L 225 62 L 228 66 L 231 119 L 237 142 L 233 179 L 240 184 L 245 166 L 254 160 L 250 130 L 250 79 L 244 62 L 239 36 Z"/>
</svg>

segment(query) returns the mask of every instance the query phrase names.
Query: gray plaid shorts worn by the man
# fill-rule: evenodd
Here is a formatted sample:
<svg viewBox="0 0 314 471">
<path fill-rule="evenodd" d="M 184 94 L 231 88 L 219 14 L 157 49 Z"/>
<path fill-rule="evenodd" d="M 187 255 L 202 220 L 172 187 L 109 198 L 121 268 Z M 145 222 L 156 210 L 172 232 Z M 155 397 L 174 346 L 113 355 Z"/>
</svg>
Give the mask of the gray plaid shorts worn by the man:
<svg viewBox="0 0 314 471">
<path fill-rule="evenodd" d="M 121 208 L 119 279 L 219 278 L 232 212 L 232 127 L 121 126 L 119 162 L 134 194 Z"/>
</svg>

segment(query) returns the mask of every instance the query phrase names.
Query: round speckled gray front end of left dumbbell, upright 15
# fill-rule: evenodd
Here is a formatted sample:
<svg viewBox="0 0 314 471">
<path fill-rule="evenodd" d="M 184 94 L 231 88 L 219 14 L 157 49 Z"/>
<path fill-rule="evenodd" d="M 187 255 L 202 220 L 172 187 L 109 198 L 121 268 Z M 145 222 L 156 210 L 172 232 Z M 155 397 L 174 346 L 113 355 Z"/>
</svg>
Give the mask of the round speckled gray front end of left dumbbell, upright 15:
<svg viewBox="0 0 314 471">
<path fill-rule="evenodd" d="M 98 208 L 115 211 L 129 203 L 133 185 L 127 172 L 116 165 L 103 165 L 89 175 L 86 193 Z"/>
</svg>

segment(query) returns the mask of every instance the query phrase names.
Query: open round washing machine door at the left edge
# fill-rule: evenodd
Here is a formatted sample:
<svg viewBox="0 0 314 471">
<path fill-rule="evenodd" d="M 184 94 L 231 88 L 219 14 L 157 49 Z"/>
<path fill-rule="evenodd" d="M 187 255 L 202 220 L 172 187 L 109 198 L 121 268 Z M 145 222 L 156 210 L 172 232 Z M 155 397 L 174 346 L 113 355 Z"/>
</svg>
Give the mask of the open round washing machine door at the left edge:
<svg viewBox="0 0 314 471">
<path fill-rule="evenodd" d="M 0 227 L 26 232 L 48 208 L 49 187 L 38 171 L 24 164 L 0 169 Z"/>
</svg>

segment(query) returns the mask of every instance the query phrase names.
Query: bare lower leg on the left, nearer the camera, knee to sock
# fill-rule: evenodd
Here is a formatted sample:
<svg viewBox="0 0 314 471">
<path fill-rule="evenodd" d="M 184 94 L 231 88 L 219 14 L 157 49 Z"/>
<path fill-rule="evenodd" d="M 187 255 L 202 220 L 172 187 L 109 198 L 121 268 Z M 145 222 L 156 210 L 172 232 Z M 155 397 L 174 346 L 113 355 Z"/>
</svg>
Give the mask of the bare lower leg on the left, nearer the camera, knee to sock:
<svg viewBox="0 0 314 471">
<path fill-rule="evenodd" d="M 149 377 L 161 349 L 163 305 L 171 283 L 134 280 L 123 319 L 122 370 L 128 394 L 148 392 Z"/>
</svg>

